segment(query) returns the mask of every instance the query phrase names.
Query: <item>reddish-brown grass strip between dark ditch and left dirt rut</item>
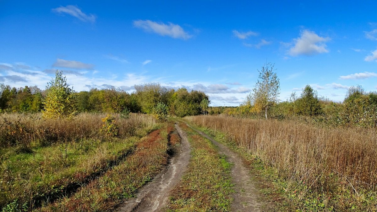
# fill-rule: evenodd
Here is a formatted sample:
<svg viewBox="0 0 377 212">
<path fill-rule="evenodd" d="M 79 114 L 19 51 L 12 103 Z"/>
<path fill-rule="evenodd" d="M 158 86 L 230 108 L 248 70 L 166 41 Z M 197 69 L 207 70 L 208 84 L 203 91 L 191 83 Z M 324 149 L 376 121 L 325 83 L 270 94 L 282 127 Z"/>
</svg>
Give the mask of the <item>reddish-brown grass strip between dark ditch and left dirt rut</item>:
<svg viewBox="0 0 377 212">
<path fill-rule="evenodd" d="M 167 163 L 172 125 L 153 131 L 136 144 L 134 153 L 67 198 L 49 204 L 41 211 L 112 211 L 133 195 Z M 173 136 L 174 137 L 174 136 Z M 174 141 L 175 144 L 177 141 Z"/>
</svg>

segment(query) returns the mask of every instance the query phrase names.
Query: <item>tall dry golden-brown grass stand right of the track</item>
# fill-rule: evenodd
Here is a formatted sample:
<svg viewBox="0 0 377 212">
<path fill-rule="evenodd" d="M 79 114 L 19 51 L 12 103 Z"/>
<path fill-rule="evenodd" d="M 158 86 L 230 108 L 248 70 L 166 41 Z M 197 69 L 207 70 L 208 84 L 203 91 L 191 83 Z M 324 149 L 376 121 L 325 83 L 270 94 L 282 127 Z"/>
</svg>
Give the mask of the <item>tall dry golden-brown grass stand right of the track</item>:
<svg viewBox="0 0 377 212">
<path fill-rule="evenodd" d="M 227 139 L 276 168 L 283 179 L 299 182 L 329 199 L 340 187 L 355 196 L 377 190 L 375 130 L 221 116 L 186 119 L 225 133 Z"/>
</svg>

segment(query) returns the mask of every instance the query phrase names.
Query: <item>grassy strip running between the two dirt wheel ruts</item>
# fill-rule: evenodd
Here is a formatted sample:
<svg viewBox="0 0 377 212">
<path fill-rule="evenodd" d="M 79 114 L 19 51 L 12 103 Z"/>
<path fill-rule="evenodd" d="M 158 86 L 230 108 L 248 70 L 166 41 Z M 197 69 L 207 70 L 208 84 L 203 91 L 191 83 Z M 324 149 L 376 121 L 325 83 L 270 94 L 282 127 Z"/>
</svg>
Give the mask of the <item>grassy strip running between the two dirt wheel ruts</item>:
<svg viewBox="0 0 377 212">
<path fill-rule="evenodd" d="M 192 158 L 187 173 L 173 189 L 168 211 L 228 211 L 232 192 L 230 167 L 216 147 L 187 125 L 179 126 L 187 132 Z"/>
</svg>

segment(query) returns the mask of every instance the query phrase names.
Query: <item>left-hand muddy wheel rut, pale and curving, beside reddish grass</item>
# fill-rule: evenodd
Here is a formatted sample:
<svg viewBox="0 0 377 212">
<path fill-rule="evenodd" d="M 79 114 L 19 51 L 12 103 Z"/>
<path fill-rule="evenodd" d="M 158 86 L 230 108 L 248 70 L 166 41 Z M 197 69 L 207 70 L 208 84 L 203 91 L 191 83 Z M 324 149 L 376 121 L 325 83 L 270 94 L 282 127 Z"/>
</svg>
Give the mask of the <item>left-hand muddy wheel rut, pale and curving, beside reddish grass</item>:
<svg viewBox="0 0 377 212">
<path fill-rule="evenodd" d="M 141 189 L 136 198 L 126 201 L 118 211 L 159 211 L 168 203 L 169 192 L 179 182 L 189 164 L 190 144 L 184 131 L 175 124 L 181 137 L 181 145 L 176 147 L 167 167 Z"/>
</svg>

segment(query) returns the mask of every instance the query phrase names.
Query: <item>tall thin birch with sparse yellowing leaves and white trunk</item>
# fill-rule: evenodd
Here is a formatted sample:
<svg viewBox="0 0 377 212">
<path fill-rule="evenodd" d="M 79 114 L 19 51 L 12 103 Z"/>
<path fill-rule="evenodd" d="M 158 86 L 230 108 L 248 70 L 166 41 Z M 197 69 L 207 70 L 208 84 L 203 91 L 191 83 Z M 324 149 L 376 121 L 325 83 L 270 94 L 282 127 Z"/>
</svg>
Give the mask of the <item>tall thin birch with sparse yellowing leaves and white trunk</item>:
<svg viewBox="0 0 377 212">
<path fill-rule="evenodd" d="M 280 82 L 274 72 L 274 64 L 265 63 L 262 70 L 258 70 L 259 79 L 253 88 L 254 106 L 265 111 L 267 120 L 267 110 L 276 103 L 280 94 Z"/>
</svg>

